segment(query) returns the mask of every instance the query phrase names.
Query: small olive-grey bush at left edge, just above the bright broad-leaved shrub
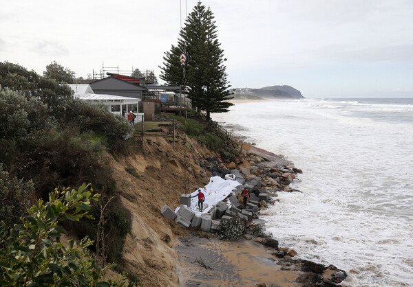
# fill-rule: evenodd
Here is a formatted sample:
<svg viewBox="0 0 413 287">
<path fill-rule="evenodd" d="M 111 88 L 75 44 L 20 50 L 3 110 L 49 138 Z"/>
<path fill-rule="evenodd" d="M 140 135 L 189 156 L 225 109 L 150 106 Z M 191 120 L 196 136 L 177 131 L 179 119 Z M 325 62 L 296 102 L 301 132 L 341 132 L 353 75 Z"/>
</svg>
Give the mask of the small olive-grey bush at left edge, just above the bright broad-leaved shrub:
<svg viewBox="0 0 413 287">
<path fill-rule="evenodd" d="M 32 205 L 34 187 L 32 181 L 23 181 L 3 171 L 0 164 L 0 218 L 11 227 L 17 223 Z"/>
</svg>

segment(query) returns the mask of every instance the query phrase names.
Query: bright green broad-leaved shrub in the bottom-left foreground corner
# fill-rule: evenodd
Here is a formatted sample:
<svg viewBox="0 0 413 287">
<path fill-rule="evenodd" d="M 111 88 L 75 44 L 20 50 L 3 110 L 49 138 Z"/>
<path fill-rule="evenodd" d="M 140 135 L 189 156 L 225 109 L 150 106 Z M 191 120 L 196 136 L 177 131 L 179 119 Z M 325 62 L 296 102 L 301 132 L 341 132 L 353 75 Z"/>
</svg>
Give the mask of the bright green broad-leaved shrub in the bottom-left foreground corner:
<svg viewBox="0 0 413 287">
<path fill-rule="evenodd" d="M 89 185 L 63 188 L 39 200 L 21 224 L 0 229 L 0 284 L 2 286 L 125 286 L 125 278 L 105 282 L 111 265 L 100 268 L 87 247 L 92 241 L 62 240 L 64 220 L 91 217 L 91 202 L 98 200 Z M 130 284 L 131 285 L 131 284 Z"/>
</svg>

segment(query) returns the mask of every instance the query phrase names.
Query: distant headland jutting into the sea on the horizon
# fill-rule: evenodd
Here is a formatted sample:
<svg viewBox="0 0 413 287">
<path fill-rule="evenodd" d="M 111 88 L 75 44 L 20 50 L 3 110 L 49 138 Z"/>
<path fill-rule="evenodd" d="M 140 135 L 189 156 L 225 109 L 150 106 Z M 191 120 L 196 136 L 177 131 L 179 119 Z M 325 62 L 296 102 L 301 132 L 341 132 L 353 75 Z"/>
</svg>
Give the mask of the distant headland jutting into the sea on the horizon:
<svg viewBox="0 0 413 287">
<path fill-rule="evenodd" d="M 234 93 L 256 95 L 264 99 L 304 99 L 300 91 L 290 86 L 271 86 L 261 89 L 237 88 Z"/>
</svg>

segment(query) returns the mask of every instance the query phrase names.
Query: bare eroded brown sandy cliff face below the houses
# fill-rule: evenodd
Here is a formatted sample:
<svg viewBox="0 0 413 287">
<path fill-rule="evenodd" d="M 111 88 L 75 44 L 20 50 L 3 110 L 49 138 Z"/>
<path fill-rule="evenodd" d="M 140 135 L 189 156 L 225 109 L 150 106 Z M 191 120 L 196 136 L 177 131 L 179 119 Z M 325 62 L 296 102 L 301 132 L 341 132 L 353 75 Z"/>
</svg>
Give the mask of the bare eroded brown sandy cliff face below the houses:
<svg viewBox="0 0 413 287">
<path fill-rule="evenodd" d="M 108 155 L 122 189 L 123 206 L 131 212 L 132 230 L 126 238 L 123 266 L 145 286 L 179 286 L 173 242 L 187 231 L 171 225 L 160 214 L 160 207 L 165 204 L 177 207 L 180 194 L 184 193 L 184 146 L 179 140 L 174 150 L 163 137 L 145 137 L 142 150 L 130 157 L 116 160 Z M 193 145 L 192 151 L 186 152 L 187 192 L 193 192 L 211 176 L 200 168 L 199 161 L 217 154 L 195 139 L 188 141 Z M 141 179 L 125 168 L 134 168 Z"/>
</svg>

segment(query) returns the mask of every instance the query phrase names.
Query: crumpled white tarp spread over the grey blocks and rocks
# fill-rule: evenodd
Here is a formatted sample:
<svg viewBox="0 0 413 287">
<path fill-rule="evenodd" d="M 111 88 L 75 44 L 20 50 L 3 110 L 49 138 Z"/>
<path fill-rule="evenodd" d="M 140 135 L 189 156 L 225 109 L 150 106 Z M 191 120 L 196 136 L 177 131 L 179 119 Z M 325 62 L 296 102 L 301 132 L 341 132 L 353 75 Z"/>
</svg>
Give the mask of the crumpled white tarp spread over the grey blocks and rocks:
<svg viewBox="0 0 413 287">
<path fill-rule="evenodd" d="M 197 215 L 206 214 L 213 205 L 216 205 L 218 202 L 228 197 L 238 185 L 240 185 L 240 183 L 232 179 L 225 180 L 220 176 L 213 176 L 209 179 L 209 183 L 205 185 L 205 188 L 198 188 L 198 190 L 191 193 L 191 196 L 194 196 L 202 191 L 205 195 L 204 207 L 205 203 L 207 203 L 208 207 L 202 212 L 198 211 L 198 196 L 195 196 L 194 198 L 191 198 L 190 208 L 195 211 L 195 214 Z"/>
</svg>

